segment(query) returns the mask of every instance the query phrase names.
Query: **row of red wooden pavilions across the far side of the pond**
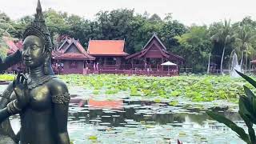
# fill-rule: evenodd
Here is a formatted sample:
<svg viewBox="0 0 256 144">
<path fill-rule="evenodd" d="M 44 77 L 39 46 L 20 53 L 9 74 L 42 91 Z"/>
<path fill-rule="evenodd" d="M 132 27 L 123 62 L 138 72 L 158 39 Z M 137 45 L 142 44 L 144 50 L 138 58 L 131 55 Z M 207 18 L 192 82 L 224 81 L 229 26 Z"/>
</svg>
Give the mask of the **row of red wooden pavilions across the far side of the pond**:
<svg viewBox="0 0 256 144">
<path fill-rule="evenodd" d="M 22 42 L 6 41 L 8 54 L 22 49 Z M 78 40 L 66 38 L 52 52 L 52 64 L 56 74 L 147 74 L 155 76 L 178 74 L 177 66 L 161 66 L 170 61 L 178 66 L 184 58 L 167 51 L 157 34 L 135 54 L 125 52 L 125 40 L 90 40 L 87 51 Z M 14 67 L 15 68 L 15 67 Z M 17 67 L 16 67 L 17 69 Z"/>
</svg>

